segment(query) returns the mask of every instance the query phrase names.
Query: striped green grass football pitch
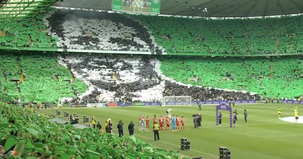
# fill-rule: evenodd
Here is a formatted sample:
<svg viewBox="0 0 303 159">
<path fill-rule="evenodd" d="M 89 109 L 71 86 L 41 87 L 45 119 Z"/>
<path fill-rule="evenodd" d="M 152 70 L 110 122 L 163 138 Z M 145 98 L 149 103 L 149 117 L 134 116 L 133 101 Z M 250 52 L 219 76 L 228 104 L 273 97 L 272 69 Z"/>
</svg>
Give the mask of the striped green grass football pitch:
<svg viewBox="0 0 303 159">
<path fill-rule="evenodd" d="M 249 158 L 303 158 L 303 124 L 293 124 L 280 121 L 278 119 L 278 107 L 282 108 L 282 117 L 293 117 L 293 104 L 238 104 L 238 123 L 236 128 L 229 128 L 228 112 L 223 113 L 222 126 L 216 126 L 215 105 L 202 105 L 202 111 L 198 112 L 197 105 L 183 107 L 124 107 L 124 108 L 78 108 L 60 109 L 61 116 L 64 111 L 70 114 L 76 113 L 80 116 L 80 123 L 83 123 L 83 116 L 90 119 L 94 115 L 96 120 L 102 123 L 112 118 L 114 133 L 117 133 L 117 122 L 124 122 L 124 130 L 130 121 L 135 123 L 135 133 L 137 138 L 142 138 L 144 142 L 154 144 L 159 147 L 180 151 L 189 157 L 205 157 L 207 159 L 219 158 L 219 146 L 228 147 L 231 150 L 233 159 Z M 184 116 L 185 131 L 162 132 L 160 141 L 154 141 L 154 134 L 137 131 L 137 120 L 139 114 L 152 119 L 157 115 L 166 115 L 165 110 L 171 108 L 172 115 Z M 243 110 L 248 111 L 248 122 L 244 122 Z M 303 105 L 298 105 L 298 110 L 303 109 Z M 54 115 L 56 109 L 40 110 L 40 113 Z M 202 115 L 202 127 L 193 128 L 191 115 L 200 113 Z M 151 122 L 151 126 L 152 121 Z M 125 133 L 124 135 L 128 135 Z M 180 150 L 180 138 L 185 137 L 190 140 L 191 150 Z"/>
</svg>

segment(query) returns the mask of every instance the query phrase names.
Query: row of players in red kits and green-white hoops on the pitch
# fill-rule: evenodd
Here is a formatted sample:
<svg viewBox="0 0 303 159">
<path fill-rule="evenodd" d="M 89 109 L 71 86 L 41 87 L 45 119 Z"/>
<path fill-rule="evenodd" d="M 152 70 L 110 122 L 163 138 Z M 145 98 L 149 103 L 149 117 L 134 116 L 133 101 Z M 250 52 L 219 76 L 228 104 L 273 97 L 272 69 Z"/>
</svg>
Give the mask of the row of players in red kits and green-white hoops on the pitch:
<svg viewBox="0 0 303 159">
<path fill-rule="evenodd" d="M 140 132 L 143 131 L 147 131 L 149 130 L 149 117 L 146 116 L 146 118 L 144 119 L 144 117 L 142 117 L 141 115 L 139 115 L 138 117 L 138 128 Z M 180 131 L 180 130 L 185 130 L 185 119 L 182 116 L 181 119 L 176 115 L 173 115 L 172 118 L 170 118 L 169 115 L 166 116 L 166 118 L 163 117 L 163 115 L 160 116 L 159 118 L 159 122 L 158 122 L 158 118 L 157 115 L 154 116 L 153 118 L 153 124 L 155 125 L 156 123 L 159 123 L 160 126 L 160 132 L 164 131 L 164 122 L 166 124 L 166 129 L 165 131 L 170 132 L 170 125 L 172 125 L 172 131 Z M 181 127 L 179 127 L 179 124 L 181 124 Z"/>
</svg>

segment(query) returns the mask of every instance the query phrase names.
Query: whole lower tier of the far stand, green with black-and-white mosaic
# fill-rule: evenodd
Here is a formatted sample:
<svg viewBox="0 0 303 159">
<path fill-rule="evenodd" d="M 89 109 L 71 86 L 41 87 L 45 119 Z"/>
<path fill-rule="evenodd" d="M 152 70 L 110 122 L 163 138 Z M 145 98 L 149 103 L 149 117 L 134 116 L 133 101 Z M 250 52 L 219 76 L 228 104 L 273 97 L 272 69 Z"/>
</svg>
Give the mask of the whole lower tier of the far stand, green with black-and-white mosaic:
<svg viewBox="0 0 303 159">
<path fill-rule="evenodd" d="M 245 100 L 258 95 L 293 99 L 303 94 L 300 56 L 197 59 L 3 54 L 1 57 L 5 59 L 1 65 L 9 66 L 1 70 L 2 98 L 20 97 L 23 102 L 57 103 L 65 97 L 77 103 L 160 101 L 163 96 L 191 96 L 193 100 Z"/>
</svg>

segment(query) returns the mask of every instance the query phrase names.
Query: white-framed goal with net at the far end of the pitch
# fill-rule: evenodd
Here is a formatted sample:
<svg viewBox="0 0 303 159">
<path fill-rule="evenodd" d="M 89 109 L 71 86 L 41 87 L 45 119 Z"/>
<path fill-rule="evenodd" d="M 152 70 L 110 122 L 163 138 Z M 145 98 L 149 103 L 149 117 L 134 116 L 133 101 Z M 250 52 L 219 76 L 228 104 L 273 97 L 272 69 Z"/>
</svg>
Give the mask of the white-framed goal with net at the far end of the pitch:
<svg viewBox="0 0 303 159">
<path fill-rule="evenodd" d="M 162 105 L 191 105 L 191 96 L 165 96 Z"/>
</svg>

